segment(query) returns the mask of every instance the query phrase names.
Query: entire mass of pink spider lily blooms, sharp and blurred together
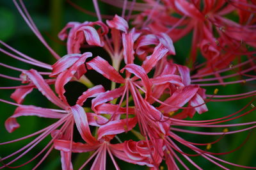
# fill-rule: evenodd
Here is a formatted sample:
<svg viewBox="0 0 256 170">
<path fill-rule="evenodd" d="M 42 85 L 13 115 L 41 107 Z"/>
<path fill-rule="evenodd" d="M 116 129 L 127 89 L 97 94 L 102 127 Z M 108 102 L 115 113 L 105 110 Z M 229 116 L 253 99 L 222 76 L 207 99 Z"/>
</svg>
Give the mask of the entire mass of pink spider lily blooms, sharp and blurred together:
<svg viewBox="0 0 256 170">
<path fill-rule="evenodd" d="M 30 58 L 0 41 L 4 48 L 11 51 L 0 48 L 4 54 L 48 70 L 47 72 L 35 69 L 23 70 L 1 63 L 1 66 L 20 72 L 20 77 L 1 76 L 20 81 L 22 84 L 15 87 L 1 87 L 1 89 L 15 89 L 11 95 L 15 103 L 4 99 L 0 101 L 17 106 L 12 116 L 5 121 L 6 130 L 13 132 L 19 128 L 17 118 L 20 116 L 38 116 L 54 119 L 56 122 L 20 139 L 0 143 L 6 145 L 38 135 L 26 146 L 10 155 L 3 157 L 4 153 L 1 153 L 0 168 L 24 166 L 46 150 L 34 169 L 42 164 L 52 150 L 60 151 L 62 169 L 73 169 L 72 153 L 87 152 L 90 156 L 84 160 L 80 169 L 88 167 L 91 160 L 91 169 L 106 169 L 107 155 L 116 169 L 122 169 L 122 165 L 117 164 L 116 158 L 151 169 L 162 169 L 164 166 L 168 169 L 179 169 L 179 166 L 189 169 L 184 162 L 186 160 L 193 167 L 202 169 L 191 158 L 196 156 L 204 157 L 205 160 L 223 169 L 227 168 L 220 162 L 231 166 L 255 168 L 227 162 L 215 156 L 231 153 L 237 148 L 223 153 L 209 151 L 211 145 L 220 141 L 225 135 L 256 127 L 255 121 L 225 124 L 251 114 L 256 109 L 252 102 L 237 112 L 223 113 L 221 118 L 193 120 L 195 114 L 208 111 L 208 102 L 239 100 L 255 96 L 253 90 L 236 95 L 217 95 L 217 88 L 212 94 L 207 94 L 203 88 L 255 81 L 255 75 L 248 74 L 255 70 L 254 53 L 243 47 L 244 43 L 255 47 L 256 35 L 253 30 L 255 16 L 252 12 L 255 9 L 254 1 L 252 3 L 224 0 L 191 2 L 175 0 L 162 3 L 145 1 L 144 6 L 135 1 L 124 1 L 122 17 L 115 15 L 112 19 L 103 22 L 97 1 L 93 0 L 99 20 L 69 22 L 59 33 L 61 40 L 67 40 L 67 55 L 61 58 L 44 40 L 23 2 L 20 1 L 20 4 L 15 0 L 13 2 L 28 26 L 57 61 L 49 65 Z M 237 5 L 241 7 L 238 8 Z M 124 14 L 126 6 L 130 10 L 127 16 Z M 129 18 L 132 18 L 130 16 L 132 8 L 143 11 L 132 21 L 136 26 L 133 28 L 128 22 Z M 234 11 L 239 13 L 239 24 L 223 17 Z M 174 17 L 175 14 L 182 17 Z M 189 65 L 175 63 L 174 56 L 179 54 L 175 52 L 173 40 L 179 40 L 191 30 L 193 30 L 193 40 L 189 62 L 195 63 L 198 47 L 207 59 L 202 65 L 204 67 L 199 70 L 197 68 L 202 66 L 189 69 Z M 218 38 L 215 38 L 216 34 Z M 90 51 L 92 47 L 105 50 L 108 56 L 94 56 Z M 246 55 L 248 59 L 230 66 L 231 61 L 241 58 L 242 55 Z M 244 70 L 240 69 L 247 65 L 252 66 Z M 221 75 L 236 68 L 239 68 L 239 72 Z M 195 71 L 196 74 L 191 76 Z M 88 79 L 92 72 L 102 76 L 102 84 L 93 85 Z M 236 76 L 240 76 L 240 79 L 225 81 Z M 244 79 L 241 76 L 249 78 Z M 104 83 L 108 81 L 104 81 L 103 78 L 111 81 L 110 89 L 104 88 Z M 74 105 L 68 103 L 65 95 L 67 90 L 65 85 L 72 81 L 87 86 Z M 22 104 L 34 89 L 40 91 L 56 107 L 43 108 Z M 253 107 L 250 108 L 250 105 Z M 57 107 L 58 109 L 55 109 Z M 232 131 L 227 128 L 244 126 L 246 127 Z M 214 127 L 224 130 L 202 132 L 182 127 Z M 200 135 L 200 137 L 216 135 L 217 140 L 209 143 L 194 143 L 193 139 L 189 141 L 180 136 L 179 132 Z M 122 140 L 118 137 L 127 133 L 133 134 L 136 139 Z M 19 166 L 11 166 L 47 137 L 51 137 L 49 143 L 31 160 Z M 6 161 L 19 153 L 16 158 Z"/>
</svg>

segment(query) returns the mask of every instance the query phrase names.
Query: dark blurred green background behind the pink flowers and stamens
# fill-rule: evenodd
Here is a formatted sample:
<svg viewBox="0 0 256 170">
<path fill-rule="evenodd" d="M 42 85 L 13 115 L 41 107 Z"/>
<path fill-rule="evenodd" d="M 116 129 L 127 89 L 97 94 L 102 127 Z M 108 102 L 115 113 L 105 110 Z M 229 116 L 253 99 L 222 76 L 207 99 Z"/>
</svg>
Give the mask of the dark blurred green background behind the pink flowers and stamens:
<svg viewBox="0 0 256 170">
<path fill-rule="evenodd" d="M 93 10 L 93 4 L 91 1 L 82 1 L 82 0 L 74 0 L 72 1 L 82 8 L 89 10 L 90 12 L 94 12 Z M 52 49 L 54 49 L 60 56 L 63 56 L 66 54 L 66 47 L 65 43 L 60 42 L 58 40 L 58 32 L 67 24 L 67 22 L 70 21 L 78 21 L 78 22 L 84 22 L 85 20 L 89 21 L 95 21 L 97 18 L 86 15 L 83 12 L 80 12 L 76 8 L 72 7 L 70 4 L 67 3 L 67 1 L 64 0 L 52 0 L 52 1 L 44 1 L 44 0 L 26 0 L 24 1 L 26 4 L 26 7 L 31 14 L 31 17 L 35 21 L 36 26 L 44 36 L 45 40 L 51 45 Z M 108 4 L 99 3 L 100 10 L 104 14 L 108 15 L 114 15 L 115 13 L 119 14 L 121 13 L 121 10 L 113 8 L 112 6 L 109 6 Z M 31 56 L 32 58 L 38 59 L 40 61 L 44 61 L 45 63 L 53 64 L 55 62 L 55 59 L 51 56 L 51 54 L 47 51 L 47 49 L 40 43 L 38 38 L 33 34 L 31 29 L 26 25 L 22 17 L 20 16 L 19 12 L 15 8 L 14 4 L 10 0 L 1 0 L 0 1 L 0 40 L 3 42 L 8 43 L 15 49 L 19 50 L 20 52 L 23 52 L 24 54 Z M 189 49 L 190 49 L 190 42 L 191 42 L 191 35 L 188 35 L 179 42 L 175 43 L 175 49 L 177 51 L 177 56 L 173 57 L 173 59 L 179 63 L 184 64 L 185 58 L 189 55 Z M 0 46 L 2 48 L 3 45 Z M 93 50 L 93 49 L 92 49 Z M 95 49 L 94 49 L 95 50 Z M 100 54 L 102 51 L 97 51 L 97 53 Z M 1 63 L 5 63 L 7 65 L 11 66 L 17 66 L 19 68 L 23 69 L 30 69 L 30 68 L 36 68 L 34 66 L 22 63 L 20 61 L 17 61 L 16 59 L 12 59 L 3 53 L 0 54 L 1 57 Z M 203 61 L 203 60 L 202 60 Z M 6 75 L 11 75 L 14 77 L 19 77 L 19 72 L 15 72 L 13 70 L 4 68 L 1 66 L 1 73 Z M 37 68 L 36 68 L 37 69 Z M 42 70 L 42 69 L 41 69 Z M 44 71 L 44 70 L 42 70 Z M 229 79 L 232 80 L 232 79 Z M 19 82 L 16 81 L 10 81 L 8 79 L 4 79 L 0 77 L 0 86 L 18 86 Z M 218 87 L 220 89 L 220 95 L 225 94 L 237 94 L 237 93 L 243 93 L 246 91 L 250 91 L 252 89 L 255 89 L 255 83 L 246 83 L 246 84 L 238 84 L 238 85 L 231 85 L 231 86 L 221 86 Z M 85 86 L 71 83 L 67 86 L 67 93 L 70 95 L 70 98 L 77 98 L 79 94 L 81 94 L 82 91 L 84 91 Z M 0 98 L 3 98 L 4 100 L 10 99 L 10 94 L 13 92 L 12 89 L 3 90 L 0 89 Z M 212 94 L 214 91 L 214 88 L 207 88 L 207 94 Z M 209 107 L 209 112 L 205 112 L 202 115 L 196 114 L 195 120 L 207 120 L 212 118 L 220 118 L 222 116 L 226 116 L 228 114 L 231 114 L 233 112 L 238 111 L 241 109 L 245 104 L 247 104 L 251 99 L 247 98 L 244 100 L 239 101 L 231 101 L 231 102 L 210 102 L 207 104 Z M 72 102 L 72 100 L 70 100 Z M 74 102 L 74 101 L 73 101 Z M 24 104 L 27 105 L 36 105 L 40 107 L 54 107 L 49 101 L 46 100 L 45 97 L 42 97 L 41 93 L 33 90 L 31 94 L 28 95 L 26 100 L 24 101 Z M 4 128 L 4 121 L 13 114 L 15 111 L 15 107 L 12 105 L 4 104 L 3 102 L 0 102 L 0 143 L 4 141 L 10 141 L 12 139 L 17 139 L 19 137 L 22 137 L 24 135 L 31 134 L 33 132 L 36 132 L 37 130 L 40 130 L 44 127 L 47 127 L 47 125 L 51 125 L 51 123 L 54 122 L 54 120 L 49 120 L 45 118 L 38 118 L 36 116 L 22 116 L 17 119 L 17 121 L 20 123 L 20 128 L 15 130 L 12 134 L 9 134 L 6 129 Z M 250 109 L 250 108 L 249 108 Z M 247 109 L 248 110 L 248 109 Z M 234 120 L 230 123 L 239 123 L 239 122 L 248 122 L 255 120 L 255 112 L 252 112 L 251 114 L 248 114 L 248 116 L 244 116 L 243 118 Z M 184 127 L 181 127 L 184 128 Z M 200 130 L 200 131 L 209 131 L 209 132 L 221 132 L 223 129 L 221 128 L 189 128 L 185 127 L 187 129 L 193 129 L 193 130 Z M 236 130 L 239 128 L 230 128 L 230 130 Z M 255 147 L 255 139 L 256 139 L 256 133 L 255 130 L 253 130 L 252 135 L 250 135 L 250 138 L 244 144 L 242 148 L 235 151 L 234 153 L 230 153 L 228 155 L 222 155 L 220 158 L 223 158 L 224 160 L 228 160 L 230 162 L 234 162 L 236 164 L 241 164 L 245 166 L 256 166 L 256 147 Z M 192 135 L 192 134 L 182 134 L 177 133 L 180 136 L 184 137 L 184 139 L 188 139 L 191 142 L 195 143 L 209 143 L 211 141 L 214 141 L 218 139 L 218 136 L 203 136 L 203 135 Z M 121 139 L 129 139 L 129 133 L 128 134 L 122 134 L 120 135 Z M 244 139 L 246 139 L 246 136 L 248 135 L 248 132 L 243 132 L 240 134 L 234 134 L 234 135 L 227 135 L 219 143 L 213 144 L 210 151 L 213 152 L 225 152 L 230 151 L 239 146 L 239 144 L 243 143 Z M 122 138 L 124 137 L 124 138 Z M 6 155 L 9 155 L 13 151 L 17 151 L 19 148 L 22 148 L 25 144 L 28 144 L 31 139 L 35 139 L 35 137 L 31 137 L 30 139 L 26 139 L 24 141 L 19 141 L 17 143 L 13 144 L 6 144 L 3 146 L 0 146 L 0 157 L 5 157 Z M 24 157 L 20 158 L 17 162 L 12 164 L 13 166 L 18 166 L 31 158 L 33 158 L 38 151 L 42 150 L 44 146 L 47 144 L 47 141 L 49 141 L 50 137 L 46 138 L 42 143 L 38 144 L 36 148 L 34 148 L 32 151 L 30 151 L 28 154 L 26 154 Z M 180 146 L 182 147 L 182 146 Z M 189 151 L 188 151 L 189 152 Z M 179 155 L 179 154 L 178 154 Z M 180 158 L 182 158 L 181 155 L 179 155 Z M 74 164 L 74 169 L 77 169 L 77 167 L 81 166 L 83 162 L 88 157 L 87 154 L 81 154 L 80 156 L 73 155 L 72 161 Z M 12 157 L 15 158 L 15 157 Z M 27 164 L 24 167 L 20 167 L 19 169 L 32 169 L 36 162 L 38 162 L 42 157 L 36 158 L 36 160 L 33 160 L 33 162 Z M 220 169 L 219 167 L 214 166 L 211 162 L 205 160 L 202 157 L 195 157 L 192 158 L 195 160 L 195 162 L 203 167 L 204 169 Z M 8 159 L 12 160 L 12 159 Z M 116 158 L 117 160 L 117 158 Z M 182 158 L 184 160 L 184 158 Z M 4 161 L 6 162 L 6 161 Z M 195 167 L 190 166 L 189 163 L 184 160 L 186 164 L 191 169 L 195 169 Z M 127 164 L 121 160 L 118 160 L 118 165 L 121 169 L 147 169 L 147 167 L 141 167 L 141 166 L 135 166 L 133 164 Z M 87 166 L 86 169 L 88 169 L 90 166 Z M 239 169 L 236 167 L 228 166 L 230 169 Z M 61 169 L 60 165 L 60 154 L 59 151 L 52 151 L 52 153 L 47 157 L 47 159 L 42 163 L 38 169 Z M 111 161 L 108 158 L 108 166 L 107 169 L 114 169 L 113 164 L 111 164 Z"/>
</svg>

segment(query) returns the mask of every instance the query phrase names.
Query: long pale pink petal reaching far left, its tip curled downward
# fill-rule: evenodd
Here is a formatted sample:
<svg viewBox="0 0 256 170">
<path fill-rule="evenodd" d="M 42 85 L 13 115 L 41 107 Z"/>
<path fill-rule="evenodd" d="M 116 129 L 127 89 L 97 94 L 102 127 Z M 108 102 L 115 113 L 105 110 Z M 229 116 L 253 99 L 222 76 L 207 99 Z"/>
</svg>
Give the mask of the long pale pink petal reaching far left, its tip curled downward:
<svg viewBox="0 0 256 170">
<path fill-rule="evenodd" d="M 5 121 L 5 127 L 8 132 L 13 132 L 16 128 L 19 128 L 20 125 L 17 123 L 16 118 L 20 116 L 38 116 L 42 118 L 54 118 L 60 119 L 65 116 L 58 112 L 51 111 L 49 109 L 44 109 L 42 107 L 35 107 L 33 105 L 26 105 L 17 107 L 13 115 Z"/>
</svg>

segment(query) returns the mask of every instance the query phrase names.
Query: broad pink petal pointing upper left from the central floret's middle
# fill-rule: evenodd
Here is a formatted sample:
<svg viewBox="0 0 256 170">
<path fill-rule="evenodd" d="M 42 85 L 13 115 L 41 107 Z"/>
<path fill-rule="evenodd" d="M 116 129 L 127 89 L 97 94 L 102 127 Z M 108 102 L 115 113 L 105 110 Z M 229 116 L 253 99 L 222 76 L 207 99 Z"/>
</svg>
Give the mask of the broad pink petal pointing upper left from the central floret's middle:
<svg viewBox="0 0 256 170">
<path fill-rule="evenodd" d="M 115 70 L 115 68 L 109 65 L 108 61 L 106 61 L 103 58 L 100 58 L 99 56 L 93 58 L 91 61 L 86 63 L 86 65 L 88 66 L 88 69 L 93 69 L 96 72 L 101 73 L 104 77 L 113 82 L 125 82 L 124 78 Z"/>
</svg>

